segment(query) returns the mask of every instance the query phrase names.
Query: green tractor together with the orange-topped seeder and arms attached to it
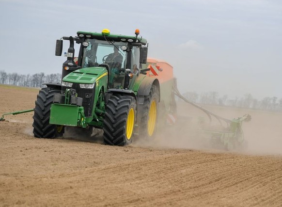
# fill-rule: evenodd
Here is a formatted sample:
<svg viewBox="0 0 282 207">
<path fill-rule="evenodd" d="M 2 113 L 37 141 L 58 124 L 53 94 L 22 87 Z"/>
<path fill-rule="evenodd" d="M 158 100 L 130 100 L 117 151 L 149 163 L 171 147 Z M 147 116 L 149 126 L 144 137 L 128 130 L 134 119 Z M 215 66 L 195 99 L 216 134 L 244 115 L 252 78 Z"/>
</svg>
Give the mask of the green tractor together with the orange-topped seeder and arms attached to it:
<svg viewBox="0 0 282 207">
<path fill-rule="evenodd" d="M 5 113 L 0 121 L 4 115 L 33 111 L 34 137 L 61 137 L 69 127 L 91 136 L 96 128 L 102 129 L 105 144 L 124 146 L 138 137 L 152 139 L 161 127 L 179 123 L 178 96 L 207 115 L 209 123 L 202 120 L 199 125 L 200 138 L 207 135 L 210 143 L 227 150 L 242 147 L 242 122 L 251 116 L 228 120 L 186 99 L 177 89 L 172 66 L 147 58 L 147 40 L 139 34 L 138 29 L 132 36 L 104 29 L 63 36 L 55 49 L 55 55 L 62 56 L 63 40 L 69 41 L 62 82 L 44 83 L 47 87 L 39 91 L 34 109 Z M 212 119 L 220 126 L 212 126 Z"/>
</svg>

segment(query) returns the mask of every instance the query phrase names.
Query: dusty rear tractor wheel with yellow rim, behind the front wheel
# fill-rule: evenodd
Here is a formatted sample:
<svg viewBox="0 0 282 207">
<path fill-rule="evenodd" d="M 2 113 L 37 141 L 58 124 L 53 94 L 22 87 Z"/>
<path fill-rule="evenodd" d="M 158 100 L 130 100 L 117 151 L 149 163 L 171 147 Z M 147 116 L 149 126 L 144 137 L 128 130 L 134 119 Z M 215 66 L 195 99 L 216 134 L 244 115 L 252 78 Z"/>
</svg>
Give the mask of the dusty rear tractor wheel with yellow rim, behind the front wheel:
<svg viewBox="0 0 282 207">
<path fill-rule="evenodd" d="M 144 104 L 141 111 L 141 137 L 151 138 L 156 134 L 157 127 L 157 110 L 158 110 L 158 95 L 157 86 L 152 85 L 149 96 L 145 96 Z"/>
</svg>

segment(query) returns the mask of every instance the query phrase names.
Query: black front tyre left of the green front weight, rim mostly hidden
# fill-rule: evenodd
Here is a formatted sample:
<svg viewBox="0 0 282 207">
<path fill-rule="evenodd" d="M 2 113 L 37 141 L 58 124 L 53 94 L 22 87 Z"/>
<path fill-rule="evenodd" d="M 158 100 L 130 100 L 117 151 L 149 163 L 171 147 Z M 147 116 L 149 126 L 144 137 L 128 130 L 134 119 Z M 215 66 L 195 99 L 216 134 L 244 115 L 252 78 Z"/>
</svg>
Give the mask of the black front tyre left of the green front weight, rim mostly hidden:
<svg viewBox="0 0 282 207">
<path fill-rule="evenodd" d="M 33 115 L 33 134 L 37 138 L 56 138 L 63 136 L 64 127 L 62 125 L 49 124 L 50 108 L 53 103 L 54 94 L 61 93 L 61 90 L 50 87 L 42 88 L 35 101 Z"/>
</svg>

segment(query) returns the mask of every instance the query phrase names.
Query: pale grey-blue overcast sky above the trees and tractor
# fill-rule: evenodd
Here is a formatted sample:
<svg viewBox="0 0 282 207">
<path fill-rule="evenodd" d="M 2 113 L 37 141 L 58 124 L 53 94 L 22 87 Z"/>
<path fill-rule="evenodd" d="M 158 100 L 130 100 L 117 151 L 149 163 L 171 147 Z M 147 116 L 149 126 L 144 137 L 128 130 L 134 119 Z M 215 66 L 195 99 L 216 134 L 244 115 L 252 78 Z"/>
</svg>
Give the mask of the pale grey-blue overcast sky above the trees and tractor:
<svg viewBox="0 0 282 207">
<path fill-rule="evenodd" d="M 282 97 L 281 0 L 0 0 L 0 10 L 7 73 L 61 73 L 56 39 L 139 28 L 149 56 L 174 67 L 182 93 Z"/>
</svg>

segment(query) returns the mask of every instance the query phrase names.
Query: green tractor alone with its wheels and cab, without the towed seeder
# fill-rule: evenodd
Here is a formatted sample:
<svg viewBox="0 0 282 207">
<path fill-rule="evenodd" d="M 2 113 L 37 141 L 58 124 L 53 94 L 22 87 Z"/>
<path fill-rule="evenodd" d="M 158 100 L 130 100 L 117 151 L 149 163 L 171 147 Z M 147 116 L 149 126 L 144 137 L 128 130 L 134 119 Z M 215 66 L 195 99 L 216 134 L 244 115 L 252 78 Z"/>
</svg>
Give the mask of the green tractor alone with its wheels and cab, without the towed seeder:
<svg viewBox="0 0 282 207">
<path fill-rule="evenodd" d="M 156 133 L 160 102 L 157 76 L 148 76 L 147 41 L 135 35 L 77 32 L 56 42 L 61 56 L 63 40 L 70 47 L 64 53 L 62 83 L 45 83 L 39 91 L 33 115 L 33 134 L 56 138 L 64 127 L 77 127 L 91 134 L 103 129 L 105 144 L 124 146 L 134 135 Z M 74 43 L 79 44 L 75 57 Z"/>
</svg>

